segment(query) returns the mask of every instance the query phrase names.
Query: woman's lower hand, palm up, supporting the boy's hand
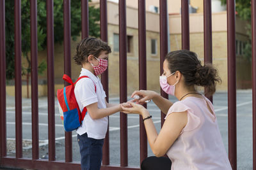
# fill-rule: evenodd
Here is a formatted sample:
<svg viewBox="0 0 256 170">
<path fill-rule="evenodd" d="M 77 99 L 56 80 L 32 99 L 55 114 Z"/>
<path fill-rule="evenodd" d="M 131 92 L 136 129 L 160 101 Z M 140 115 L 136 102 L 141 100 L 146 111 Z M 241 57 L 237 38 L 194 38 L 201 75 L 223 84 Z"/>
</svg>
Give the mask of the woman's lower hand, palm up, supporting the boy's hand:
<svg viewBox="0 0 256 170">
<path fill-rule="evenodd" d="M 121 107 L 124 113 L 136 113 L 142 115 L 143 113 L 148 112 L 147 109 L 141 106 L 140 104 L 131 102 L 122 103 Z"/>
</svg>

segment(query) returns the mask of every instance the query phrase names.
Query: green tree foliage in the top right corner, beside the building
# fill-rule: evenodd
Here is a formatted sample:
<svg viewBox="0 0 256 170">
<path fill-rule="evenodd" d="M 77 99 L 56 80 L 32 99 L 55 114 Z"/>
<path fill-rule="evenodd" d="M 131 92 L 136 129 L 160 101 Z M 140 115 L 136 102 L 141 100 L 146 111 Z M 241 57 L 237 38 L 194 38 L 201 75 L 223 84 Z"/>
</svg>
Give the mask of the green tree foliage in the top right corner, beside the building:
<svg viewBox="0 0 256 170">
<path fill-rule="evenodd" d="M 227 0 L 221 0 L 222 4 L 227 4 Z M 242 19 L 248 21 L 246 25 L 249 39 L 244 48 L 244 57 L 252 60 L 252 32 L 251 32 L 251 0 L 236 0 L 237 15 Z"/>
</svg>

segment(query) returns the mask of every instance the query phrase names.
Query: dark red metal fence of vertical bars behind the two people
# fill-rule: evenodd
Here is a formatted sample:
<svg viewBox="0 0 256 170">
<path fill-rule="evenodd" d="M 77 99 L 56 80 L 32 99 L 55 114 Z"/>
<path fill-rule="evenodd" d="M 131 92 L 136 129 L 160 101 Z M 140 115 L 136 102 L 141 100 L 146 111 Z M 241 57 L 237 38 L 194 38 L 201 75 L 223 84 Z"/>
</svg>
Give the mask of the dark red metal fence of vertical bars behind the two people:
<svg viewBox="0 0 256 170">
<path fill-rule="evenodd" d="M 47 0 L 47 87 L 48 87 L 48 139 L 49 159 L 39 159 L 38 150 L 38 71 L 37 71 L 37 20 L 36 0 L 31 0 L 31 106 L 32 106 L 32 159 L 22 157 L 22 97 L 21 97 L 21 21 L 20 0 L 15 1 L 15 134 L 16 156 L 6 154 L 6 55 L 5 55 L 5 3 L 0 0 L 0 116 L 1 116 L 1 157 L 0 166 L 29 169 L 80 169 L 72 161 L 72 134 L 65 132 L 65 160 L 55 160 L 54 120 L 54 27 L 53 0 Z M 119 1 L 119 42 L 120 42 L 120 103 L 127 101 L 127 32 L 126 2 Z M 167 1 L 159 0 L 160 6 L 160 67 L 168 53 L 168 10 Z M 189 9 L 188 0 L 181 0 L 182 6 L 182 48 L 189 50 Z M 145 0 L 138 0 L 139 32 L 139 76 L 140 89 L 147 89 L 147 53 Z M 88 36 L 88 0 L 81 0 L 82 38 Z M 100 0 L 100 38 L 108 41 L 107 0 Z M 71 76 L 70 54 L 70 0 L 63 0 L 64 22 L 64 73 Z M 211 1 L 204 0 L 204 61 L 212 62 Z M 228 156 L 233 169 L 237 169 L 236 143 L 236 45 L 235 45 L 235 1 L 227 0 L 228 30 Z M 162 74 L 162 69 L 159 71 Z M 67 84 L 65 84 L 67 85 Z M 108 100 L 108 70 L 102 74 L 102 85 Z M 252 92 L 253 92 L 253 169 L 256 170 L 256 1 L 252 0 Z M 207 89 L 205 89 L 207 90 Z M 161 91 L 161 95 L 168 98 Z M 212 101 L 211 96 L 207 96 Z M 161 114 L 162 125 L 164 121 Z M 147 136 L 140 117 L 140 160 L 147 157 Z M 101 169 L 139 169 L 128 165 L 127 115 L 120 113 L 120 166 L 109 164 L 109 132 L 103 148 Z"/>
</svg>

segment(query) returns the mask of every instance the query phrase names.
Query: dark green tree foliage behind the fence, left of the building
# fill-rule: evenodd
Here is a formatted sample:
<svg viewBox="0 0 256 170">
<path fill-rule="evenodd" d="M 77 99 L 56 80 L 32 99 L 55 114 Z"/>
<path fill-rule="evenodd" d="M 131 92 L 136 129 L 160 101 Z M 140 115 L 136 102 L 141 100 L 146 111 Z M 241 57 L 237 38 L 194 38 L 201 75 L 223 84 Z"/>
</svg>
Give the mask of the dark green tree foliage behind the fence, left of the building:
<svg viewBox="0 0 256 170">
<path fill-rule="evenodd" d="M 14 73 L 14 1 L 5 1 L 6 15 L 6 79 L 12 80 Z M 37 1 L 37 22 L 38 22 L 38 50 L 45 50 L 47 46 L 47 11 L 46 1 Z M 76 40 L 81 32 L 81 0 L 72 0 L 70 4 L 71 15 L 71 36 Z M 89 7 L 89 34 L 90 36 L 99 37 L 100 11 L 94 6 Z M 21 1 L 21 38 L 22 38 L 22 55 L 26 58 L 28 66 L 22 64 L 22 74 L 30 73 L 30 3 L 29 0 Z M 63 0 L 54 0 L 54 42 L 63 42 Z M 43 73 L 46 69 L 45 60 L 38 64 L 38 73 Z"/>
</svg>

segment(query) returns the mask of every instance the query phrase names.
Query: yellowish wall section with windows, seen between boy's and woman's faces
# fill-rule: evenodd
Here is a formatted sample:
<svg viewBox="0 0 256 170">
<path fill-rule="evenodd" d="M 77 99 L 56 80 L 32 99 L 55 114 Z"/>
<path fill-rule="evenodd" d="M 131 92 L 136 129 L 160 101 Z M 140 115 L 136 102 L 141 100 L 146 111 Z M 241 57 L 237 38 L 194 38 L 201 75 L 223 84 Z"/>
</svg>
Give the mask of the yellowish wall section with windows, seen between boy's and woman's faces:
<svg viewBox="0 0 256 170">
<path fill-rule="evenodd" d="M 118 25 L 108 25 L 108 43 L 112 53 L 109 55 L 109 96 L 119 96 L 119 52 L 114 52 L 113 34 L 118 34 Z M 127 94 L 139 90 L 139 65 L 138 65 L 138 29 L 127 28 L 127 35 L 133 36 L 133 52 L 127 53 Z M 151 39 L 157 39 L 157 55 L 151 55 Z M 147 89 L 159 91 L 160 74 L 160 40 L 159 33 L 147 31 Z"/>
</svg>

